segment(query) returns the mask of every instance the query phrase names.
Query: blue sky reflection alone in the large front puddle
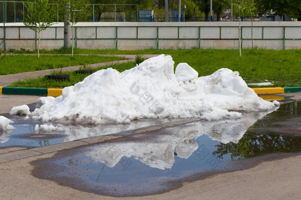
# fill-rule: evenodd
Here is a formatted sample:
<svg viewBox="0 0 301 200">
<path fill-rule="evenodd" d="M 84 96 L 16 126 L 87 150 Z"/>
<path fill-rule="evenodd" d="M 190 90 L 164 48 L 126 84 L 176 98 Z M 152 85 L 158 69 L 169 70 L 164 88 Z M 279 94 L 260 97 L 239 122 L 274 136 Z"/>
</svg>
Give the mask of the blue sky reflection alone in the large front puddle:
<svg viewBox="0 0 301 200">
<path fill-rule="evenodd" d="M 85 185 L 90 185 L 92 188 L 105 187 L 108 189 L 105 194 L 112 192 L 130 195 L 131 193 L 142 194 L 144 190 L 158 191 L 164 188 L 161 184 L 165 184 L 167 181 L 227 167 L 230 160 L 229 156 L 221 160 L 212 154 L 216 150 L 215 145 L 219 144 L 218 141 L 210 139 L 205 134 L 194 141 L 199 148 L 188 159 L 174 156 L 172 167 L 164 170 L 136 160 L 135 156 L 122 157 L 116 165 L 109 167 L 101 161 L 86 156 L 86 151 L 91 151 L 91 149 L 81 148 L 79 149 L 80 154 L 54 161 L 56 165 L 68 166 L 68 170 L 56 171 L 54 176 L 71 175 L 75 179 L 81 179 Z M 123 150 L 120 149 L 120 151 Z M 172 153 L 174 154 L 174 152 Z"/>
</svg>

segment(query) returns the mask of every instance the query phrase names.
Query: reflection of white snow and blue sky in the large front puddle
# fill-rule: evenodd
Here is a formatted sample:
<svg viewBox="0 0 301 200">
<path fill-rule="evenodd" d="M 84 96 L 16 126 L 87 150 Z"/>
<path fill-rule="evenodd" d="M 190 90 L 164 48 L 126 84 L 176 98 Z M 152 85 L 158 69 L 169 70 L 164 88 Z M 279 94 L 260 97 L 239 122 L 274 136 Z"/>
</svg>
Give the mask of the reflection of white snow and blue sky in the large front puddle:
<svg viewBox="0 0 301 200">
<path fill-rule="evenodd" d="M 123 142 L 78 148 L 74 154 L 51 160 L 49 167 L 63 167 L 55 170 L 55 177 L 71 175 L 71 179 L 84 180 L 80 184 L 90 188 L 107 188 L 108 195 L 115 190 L 119 195 L 142 194 L 150 188 L 158 191 L 162 190 L 161 184 L 169 181 L 226 169 L 230 155 L 217 158 L 213 154 L 217 145 L 237 143 L 264 115 L 266 113 L 246 114 L 240 119 L 195 121 L 138 133 Z M 139 139 L 134 141 L 134 138 Z"/>
</svg>

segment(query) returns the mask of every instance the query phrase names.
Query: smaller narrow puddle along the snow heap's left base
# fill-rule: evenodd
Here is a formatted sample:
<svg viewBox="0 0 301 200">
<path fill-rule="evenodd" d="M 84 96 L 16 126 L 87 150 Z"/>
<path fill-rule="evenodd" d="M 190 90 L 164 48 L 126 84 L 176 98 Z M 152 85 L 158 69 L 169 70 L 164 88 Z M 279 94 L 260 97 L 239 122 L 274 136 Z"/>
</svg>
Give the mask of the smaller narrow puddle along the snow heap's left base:
<svg viewBox="0 0 301 200">
<path fill-rule="evenodd" d="M 13 130 L 0 130 L 0 148 L 7 147 L 41 147 L 63 142 L 70 142 L 82 138 L 109 135 L 125 130 L 134 130 L 141 127 L 147 127 L 168 122 L 168 119 L 162 120 L 135 120 L 127 124 L 105 124 L 98 126 L 76 126 L 53 124 L 64 129 L 64 132 L 42 132 L 35 131 L 35 125 L 41 124 L 36 120 L 24 120 L 21 117 L 10 117 L 15 127 Z M 47 123 L 51 124 L 51 123 Z"/>
</svg>

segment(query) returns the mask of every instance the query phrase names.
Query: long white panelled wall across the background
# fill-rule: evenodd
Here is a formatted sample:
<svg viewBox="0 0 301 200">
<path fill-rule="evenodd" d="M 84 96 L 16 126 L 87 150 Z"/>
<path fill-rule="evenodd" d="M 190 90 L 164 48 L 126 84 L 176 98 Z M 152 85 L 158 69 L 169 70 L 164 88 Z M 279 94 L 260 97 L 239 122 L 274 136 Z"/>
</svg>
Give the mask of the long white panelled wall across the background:
<svg viewBox="0 0 301 200">
<path fill-rule="evenodd" d="M 301 48 L 301 22 L 254 22 L 254 46 Z M 63 23 L 42 32 L 41 48 L 63 46 Z M 251 48 L 251 23 L 242 22 L 242 46 Z M 76 33 L 76 34 L 75 34 Z M 77 48 L 238 48 L 238 22 L 96 22 L 74 28 Z M 36 33 L 22 23 L 5 24 L 5 48 L 36 48 Z M 0 42 L 3 24 L 0 24 Z M 284 41 L 285 40 L 285 41 Z M 284 46 L 285 45 L 285 46 Z M 3 49 L 3 43 L 0 49 Z"/>
</svg>

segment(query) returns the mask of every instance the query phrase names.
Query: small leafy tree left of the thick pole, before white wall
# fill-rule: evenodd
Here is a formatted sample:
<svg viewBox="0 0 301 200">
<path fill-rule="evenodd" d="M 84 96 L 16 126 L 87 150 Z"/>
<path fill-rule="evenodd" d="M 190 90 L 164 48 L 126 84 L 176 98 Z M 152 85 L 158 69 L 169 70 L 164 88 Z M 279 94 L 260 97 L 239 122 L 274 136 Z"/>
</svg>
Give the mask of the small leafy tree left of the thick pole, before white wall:
<svg viewBox="0 0 301 200">
<path fill-rule="evenodd" d="M 40 34 L 53 25 L 57 15 L 56 6 L 48 4 L 48 0 L 31 0 L 26 3 L 27 15 L 24 16 L 24 25 L 38 33 L 38 58 L 40 48 Z"/>
</svg>

